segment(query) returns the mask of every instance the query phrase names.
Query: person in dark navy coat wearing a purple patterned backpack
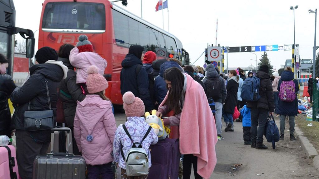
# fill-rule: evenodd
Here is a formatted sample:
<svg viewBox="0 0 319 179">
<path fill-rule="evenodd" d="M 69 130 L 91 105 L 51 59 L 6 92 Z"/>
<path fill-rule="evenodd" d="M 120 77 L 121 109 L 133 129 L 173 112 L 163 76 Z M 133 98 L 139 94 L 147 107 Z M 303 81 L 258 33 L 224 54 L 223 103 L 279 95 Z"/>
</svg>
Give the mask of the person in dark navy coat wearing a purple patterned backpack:
<svg viewBox="0 0 319 179">
<path fill-rule="evenodd" d="M 286 115 L 289 117 L 290 140 L 296 140 L 293 132 L 295 131 L 295 116 L 298 114 L 297 92 L 299 85 L 293 76 L 293 71 L 287 67 L 281 73 L 278 82 L 279 98 L 276 113 L 280 115 L 280 140 L 284 140 Z"/>
</svg>

